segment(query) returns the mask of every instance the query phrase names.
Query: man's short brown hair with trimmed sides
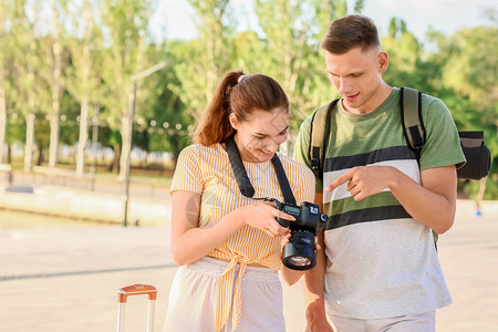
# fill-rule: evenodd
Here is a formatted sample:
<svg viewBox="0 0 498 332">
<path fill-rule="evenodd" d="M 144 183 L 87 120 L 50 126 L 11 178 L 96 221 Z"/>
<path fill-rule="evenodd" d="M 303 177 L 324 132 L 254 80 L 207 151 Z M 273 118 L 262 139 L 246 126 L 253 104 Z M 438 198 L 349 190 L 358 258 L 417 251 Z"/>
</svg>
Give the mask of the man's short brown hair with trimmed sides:
<svg viewBox="0 0 498 332">
<path fill-rule="evenodd" d="M 380 46 L 377 27 L 367 17 L 352 14 L 330 24 L 321 48 L 333 54 L 343 54 L 360 46 L 362 50 Z"/>
</svg>

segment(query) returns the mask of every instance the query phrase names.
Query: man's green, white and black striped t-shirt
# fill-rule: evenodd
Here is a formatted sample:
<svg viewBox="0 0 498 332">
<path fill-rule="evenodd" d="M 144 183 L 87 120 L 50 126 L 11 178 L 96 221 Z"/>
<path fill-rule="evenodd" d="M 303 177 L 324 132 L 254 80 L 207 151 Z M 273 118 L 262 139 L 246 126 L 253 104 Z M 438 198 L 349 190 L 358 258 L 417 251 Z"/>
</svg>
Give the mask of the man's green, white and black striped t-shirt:
<svg viewBox="0 0 498 332">
<path fill-rule="evenodd" d="M 317 191 L 355 166 L 393 166 L 421 184 L 421 169 L 465 160 L 458 133 L 444 103 L 423 95 L 427 132 L 418 166 L 406 146 L 400 114 L 400 90 L 364 115 L 344 111 L 332 118 L 323 184 Z M 310 165 L 309 117 L 301 126 L 294 157 Z M 437 259 L 432 230 L 413 219 L 388 188 L 355 201 L 345 185 L 323 191 L 328 258 L 328 311 L 355 319 L 381 319 L 433 311 L 450 303 Z"/>
</svg>

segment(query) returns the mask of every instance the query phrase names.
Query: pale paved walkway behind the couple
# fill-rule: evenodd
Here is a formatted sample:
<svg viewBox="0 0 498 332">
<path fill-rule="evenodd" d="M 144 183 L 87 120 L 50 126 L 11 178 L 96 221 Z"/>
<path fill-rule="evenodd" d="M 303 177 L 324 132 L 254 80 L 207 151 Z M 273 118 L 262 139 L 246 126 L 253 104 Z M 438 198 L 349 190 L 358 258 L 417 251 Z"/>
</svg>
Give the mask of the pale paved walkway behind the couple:
<svg viewBox="0 0 498 332">
<path fill-rule="evenodd" d="M 483 214 L 458 201 L 439 239 L 454 304 L 438 311 L 438 332 L 498 331 L 498 204 Z M 157 287 L 162 331 L 175 271 L 166 226 L 0 229 L 0 331 L 113 331 L 117 289 L 134 283 Z M 300 284 L 284 288 L 284 303 L 288 331 L 303 331 Z M 145 331 L 146 307 L 128 299 L 126 331 Z"/>
</svg>

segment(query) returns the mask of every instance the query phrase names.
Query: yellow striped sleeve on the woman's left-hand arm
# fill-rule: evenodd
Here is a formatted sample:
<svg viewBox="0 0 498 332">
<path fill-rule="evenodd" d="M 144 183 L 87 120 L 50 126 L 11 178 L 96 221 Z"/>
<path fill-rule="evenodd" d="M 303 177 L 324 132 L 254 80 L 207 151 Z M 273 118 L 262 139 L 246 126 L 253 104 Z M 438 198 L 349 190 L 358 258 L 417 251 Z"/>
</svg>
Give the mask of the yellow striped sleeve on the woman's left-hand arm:
<svg viewBox="0 0 498 332">
<path fill-rule="evenodd" d="M 199 149 L 196 145 L 187 146 L 181 151 L 176 163 L 169 194 L 175 191 L 193 191 L 203 194 L 203 176 Z"/>
</svg>

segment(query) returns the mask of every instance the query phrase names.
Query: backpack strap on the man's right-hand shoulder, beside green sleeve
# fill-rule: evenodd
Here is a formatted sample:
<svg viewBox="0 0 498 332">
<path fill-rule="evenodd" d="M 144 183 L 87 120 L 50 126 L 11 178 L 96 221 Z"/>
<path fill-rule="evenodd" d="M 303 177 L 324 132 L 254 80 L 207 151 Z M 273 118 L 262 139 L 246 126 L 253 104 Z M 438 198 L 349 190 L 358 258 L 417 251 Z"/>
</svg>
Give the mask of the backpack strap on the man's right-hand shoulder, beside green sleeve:
<svg viewBox="0 0 498 332">
<path fill-rule="evenodd" d="M 417 160 L 425 144 L 425 127 L 422 120 L 422 92 L 411 87 L 400 87 L 401 118 L 406 144 Z"/>
</svg>

